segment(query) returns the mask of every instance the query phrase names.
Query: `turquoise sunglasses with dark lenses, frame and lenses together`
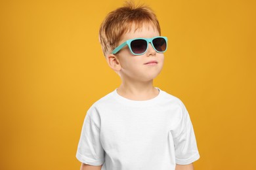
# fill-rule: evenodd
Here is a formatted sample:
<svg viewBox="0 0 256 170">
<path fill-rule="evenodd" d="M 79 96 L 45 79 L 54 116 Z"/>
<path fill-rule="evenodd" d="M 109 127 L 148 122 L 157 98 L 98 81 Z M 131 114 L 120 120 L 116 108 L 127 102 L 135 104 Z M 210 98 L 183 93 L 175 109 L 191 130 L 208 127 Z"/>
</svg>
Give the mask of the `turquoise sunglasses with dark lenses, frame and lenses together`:
<svg viewBox="0 0 256 170">
<path fill-rule="evenodd" d="M 151 43 L 156 52 L 165 52 L 167 50 L 167 37 L 152 37 L 149 39 L 137 38 L 123 42 L 113 50 L 112 54 L 116 54 L 121 48 L 128 45 L 133 55 L 142 55 L 148 50 L 148 43 Z"/>
</svg>

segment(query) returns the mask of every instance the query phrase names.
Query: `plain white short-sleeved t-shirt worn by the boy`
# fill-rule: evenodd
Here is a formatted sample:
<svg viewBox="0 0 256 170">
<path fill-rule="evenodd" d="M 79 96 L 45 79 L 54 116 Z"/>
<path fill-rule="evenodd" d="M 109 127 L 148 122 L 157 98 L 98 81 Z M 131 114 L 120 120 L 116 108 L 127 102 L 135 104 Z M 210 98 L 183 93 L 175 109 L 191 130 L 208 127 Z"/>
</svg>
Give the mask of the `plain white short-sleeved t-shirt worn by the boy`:
<svg viewBox="0 0 256 170">
<path fill-rule="evenodd" d="M 102 170 L 175 170 L 200 158 L 182 101 L 160 88 L 153 99 L 134 101 L 117 89 L 87 111 L 77 160 Z"/>
</svg>

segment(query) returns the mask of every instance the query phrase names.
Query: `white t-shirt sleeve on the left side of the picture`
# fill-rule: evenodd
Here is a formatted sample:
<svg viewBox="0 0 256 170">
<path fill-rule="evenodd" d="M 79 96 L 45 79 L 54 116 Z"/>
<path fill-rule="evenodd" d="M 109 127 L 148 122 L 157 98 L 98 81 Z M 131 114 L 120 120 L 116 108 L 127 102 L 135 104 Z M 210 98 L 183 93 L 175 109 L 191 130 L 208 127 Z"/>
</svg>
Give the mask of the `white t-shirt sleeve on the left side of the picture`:
<svg viewBox="0 0 256 170">
<path fill-rule="evenodd" d="M 94 166 L 102 165 L 105 161 L 96 115 L 97 111 L 93 107 L 87 111 L 76 152 L 77 160 Z"/>
</svg>

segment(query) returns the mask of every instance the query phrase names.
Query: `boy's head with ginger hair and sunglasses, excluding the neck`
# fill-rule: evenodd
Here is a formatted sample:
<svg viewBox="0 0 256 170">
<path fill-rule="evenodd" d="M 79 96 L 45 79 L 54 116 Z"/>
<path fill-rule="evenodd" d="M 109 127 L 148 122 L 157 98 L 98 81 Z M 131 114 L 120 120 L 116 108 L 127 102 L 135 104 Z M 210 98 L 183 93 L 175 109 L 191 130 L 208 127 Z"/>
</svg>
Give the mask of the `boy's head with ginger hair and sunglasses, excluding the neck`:
<svg viewBox="0 0 256 170">
<path fill-rule="evenodd" d="M 100 44 L 108 65 L 125 82 L 150 82 L 163 67 L 167 38 L 160 37 L 154 12 L 133 2 L 106 16 L 100 26 Z"/>
</svg>

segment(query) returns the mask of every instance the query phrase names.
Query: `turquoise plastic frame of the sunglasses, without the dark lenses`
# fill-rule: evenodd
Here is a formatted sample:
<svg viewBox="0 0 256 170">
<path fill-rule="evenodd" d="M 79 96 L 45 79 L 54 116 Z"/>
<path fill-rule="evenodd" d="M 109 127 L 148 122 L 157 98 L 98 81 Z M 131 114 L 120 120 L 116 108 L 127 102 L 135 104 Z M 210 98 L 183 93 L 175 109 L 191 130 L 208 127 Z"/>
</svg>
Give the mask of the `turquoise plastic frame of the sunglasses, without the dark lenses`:
<svg viewBox="0 0 256 170">
<path fill-rule="evenodd" d="M 128 45 L 128 46 L 129 46 L 129 49 L 130 49 L 131 53 L 132 53 L 133 55 L 135 55 L 135 56 L 139 56 L 139 55 L 145 54 L 146 51 L 148 50 L 148 44 L 149 44 L 149 43 L 152 45 L 152 47 L 154 48 L 154 50 L 156 50 L 156 48 L 155 48 L 155 46 L 154 46 L 154 44 L 153 44 L 153 40 L 154 40 L 154 39 L 158 39 L 158 38 L 163 38 L 163 39 L 165 39 L 166 48 L 165 48 L 165 50 L 163 51 L 163 52 L 165 52 L 165 51 L 167 50 L 167 37 L 161 37 L 161 36 L 160 36 L 160 37 L 152 37 L 152 38 L 149 38 L 149 39 L 144 39 L 144 38 L 129 39 L 129 40 L 123 42 L 121 45 L 117 46 L 117 48 L 115 48 L 115 49 L 113 50 L 112 54 L 116 54 L 117 52 L 119 52 L 119 50 L 121 50 L 123 47 L 125 47 L 125 45 Z M 136 53 L 133 52 L 133 50 L 131 50 L 131 42 L 134 41 L 134 40 L 138 40 L 138 39 L 142 39 L 142 40 L 144 40 L 144 41 L 147 42 L 146 50 L 145 50 L 144 52 L 140 53 L 140 54 L 136 54 Z M 160 52 L 160 51 L 156 50 L 156 52 Z M 163 52 L 160 52 L 160 53 L 163 53 Z"/>
</svg>

